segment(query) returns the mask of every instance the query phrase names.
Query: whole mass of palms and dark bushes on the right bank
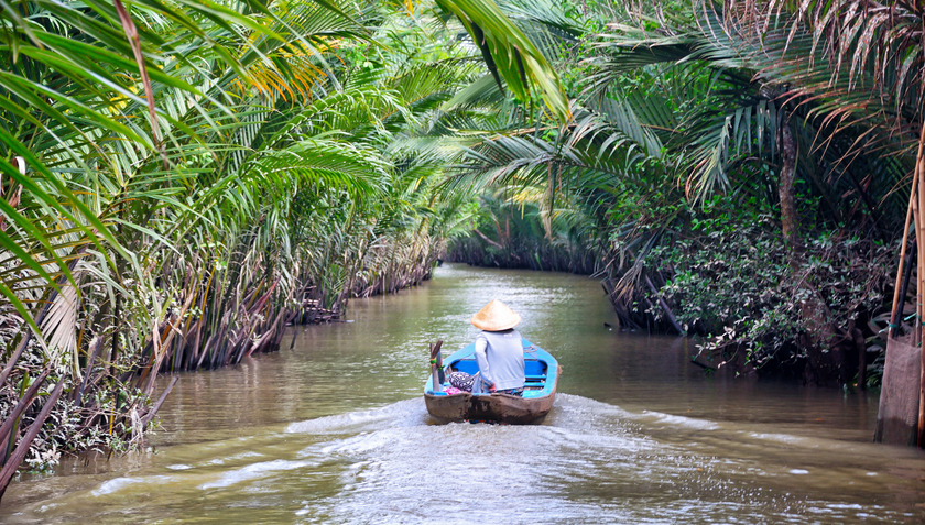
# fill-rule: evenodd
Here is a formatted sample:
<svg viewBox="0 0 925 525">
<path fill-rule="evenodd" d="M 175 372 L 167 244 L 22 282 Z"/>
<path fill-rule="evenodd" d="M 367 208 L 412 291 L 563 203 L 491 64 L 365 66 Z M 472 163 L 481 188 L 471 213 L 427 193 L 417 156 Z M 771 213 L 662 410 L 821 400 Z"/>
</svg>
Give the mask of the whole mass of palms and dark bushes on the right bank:
<svg viewBox="0 0 925 525">
<path fill-rule="evenodd" d="M 877 372 L 866 350 L 882 358 L 921 155 L 921 7 L 500 4 L 549 56 L 574 120 L 520 116 L 458 179 L 580 210 L 568 231 L 586 232 L 576 244 L 625 328 L 701 336 L 698 360 L 740 372 L 842 384 Z M 497 247 L 494 209 L 451 253 L 520 259 Z M 547 253 L 547 217 L 505 236 Z"/>
</svg>

